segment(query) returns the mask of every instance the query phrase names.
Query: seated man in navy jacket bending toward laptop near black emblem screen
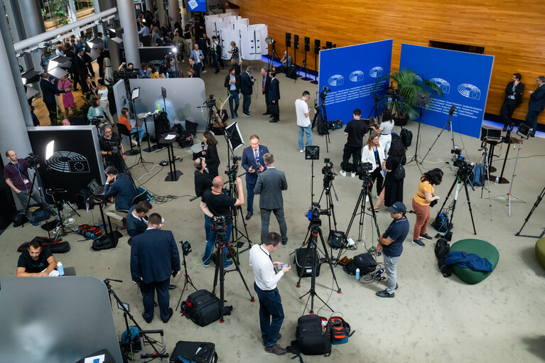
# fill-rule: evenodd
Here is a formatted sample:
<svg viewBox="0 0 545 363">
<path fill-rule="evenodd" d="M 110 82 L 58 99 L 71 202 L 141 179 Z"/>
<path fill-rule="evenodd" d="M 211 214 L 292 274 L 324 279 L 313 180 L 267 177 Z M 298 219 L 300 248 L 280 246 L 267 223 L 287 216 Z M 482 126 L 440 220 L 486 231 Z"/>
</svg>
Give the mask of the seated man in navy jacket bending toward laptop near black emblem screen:
<svg viewBox="0 0 545 363">
<path fill-rule="evenodd" d="M 129 210 L 132 200 L 138 195 L 138 192 L 134 188 L 129 175 L 119 174 L 115 166 L 108 166 L 104 172 L 107 175 L 106 184 L 104 185 L 104 197 L 109 198 L 110 202 L 112 202 L 112 204 L 104 207 L 104 213 L 114 220 L 122 221 L 123 226 L 121 229 L 124 229 L 126 219 L 124 215 L 118 214 L 116 210 Z"/>
</svg>

